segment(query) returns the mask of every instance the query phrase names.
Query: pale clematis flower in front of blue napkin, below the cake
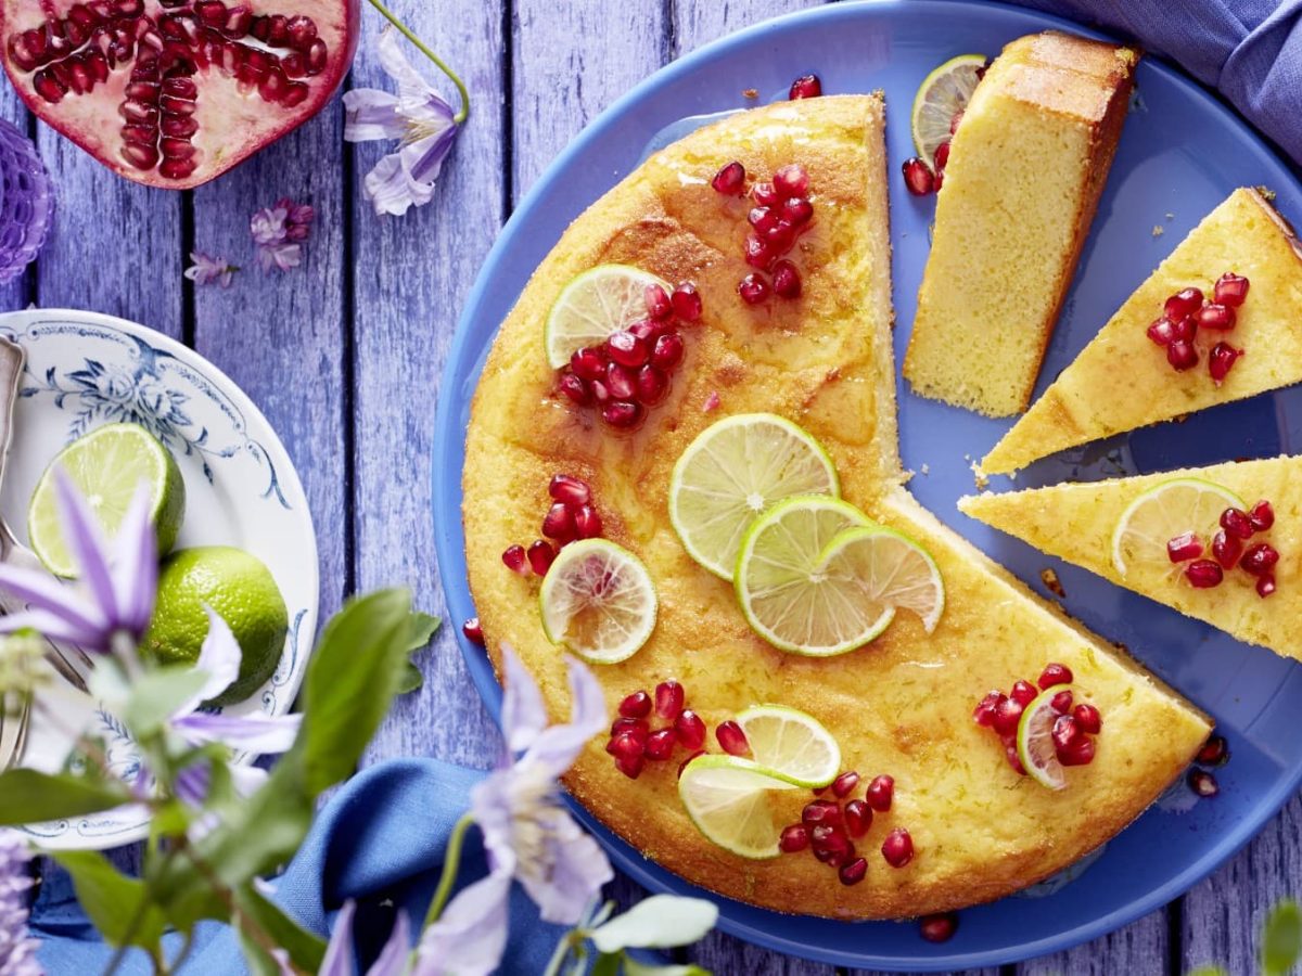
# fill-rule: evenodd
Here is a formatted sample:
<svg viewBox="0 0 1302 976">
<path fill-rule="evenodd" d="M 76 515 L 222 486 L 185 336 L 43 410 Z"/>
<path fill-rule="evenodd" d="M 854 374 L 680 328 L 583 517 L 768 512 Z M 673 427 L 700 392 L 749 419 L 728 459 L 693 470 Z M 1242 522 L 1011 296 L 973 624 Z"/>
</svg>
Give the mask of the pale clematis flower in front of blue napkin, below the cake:
<svg viewBox="0 0 1302 976">
<path fill-rule="evenodd" d="M 484 835 L 491 873 L 464 889 L 421 940 L 422 960 L 470 976 L 496 968 L 506 943 L 506 897 L 519 881 L 544 921 L 574 925 L 615 874 L 605 854 L 574 822 L 560 800 L 556 778 L 605 729 L 605 699 L 592 673 L 568 658 L 570 720 L 547 725 L 547 709 L 533 675 L 505 644 L 506 691 L 501 724 L 506 748 L 518 757 L 470 794 L 470 813 Z M 452 966 L 450 951 L 467 958 Z"/>
</svg>

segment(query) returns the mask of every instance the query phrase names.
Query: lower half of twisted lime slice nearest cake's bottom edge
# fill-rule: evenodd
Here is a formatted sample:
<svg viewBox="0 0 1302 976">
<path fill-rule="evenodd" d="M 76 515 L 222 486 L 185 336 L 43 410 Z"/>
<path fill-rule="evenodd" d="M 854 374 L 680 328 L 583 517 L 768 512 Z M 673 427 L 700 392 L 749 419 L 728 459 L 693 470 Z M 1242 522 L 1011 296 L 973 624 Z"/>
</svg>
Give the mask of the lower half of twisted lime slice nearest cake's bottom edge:
<svg viewBox="0 0 1302 976">
<path fill-rule="evenodd" d="M 780 854 L 769 793 L 794 789 L 737 756 L 698 756 L 678 777 L 678 796 L 697 829 L 724 850 L 755 860 Z"/>
</svg>

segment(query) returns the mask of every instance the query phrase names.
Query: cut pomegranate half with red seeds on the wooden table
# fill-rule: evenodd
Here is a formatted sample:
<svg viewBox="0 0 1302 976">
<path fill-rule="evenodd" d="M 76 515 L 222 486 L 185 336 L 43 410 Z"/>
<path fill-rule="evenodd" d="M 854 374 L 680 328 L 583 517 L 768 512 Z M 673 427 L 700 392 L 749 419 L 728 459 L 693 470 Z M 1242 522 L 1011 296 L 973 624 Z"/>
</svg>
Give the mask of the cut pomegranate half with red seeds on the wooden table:
<svg viewBox="0 0 1302 976">
<path fill-rule="evenodd" d="M 358 23 L 359 0 L 0 0 L 27 107 L 109 169 L 172 190 L 316 115 Z"/>
</svg>

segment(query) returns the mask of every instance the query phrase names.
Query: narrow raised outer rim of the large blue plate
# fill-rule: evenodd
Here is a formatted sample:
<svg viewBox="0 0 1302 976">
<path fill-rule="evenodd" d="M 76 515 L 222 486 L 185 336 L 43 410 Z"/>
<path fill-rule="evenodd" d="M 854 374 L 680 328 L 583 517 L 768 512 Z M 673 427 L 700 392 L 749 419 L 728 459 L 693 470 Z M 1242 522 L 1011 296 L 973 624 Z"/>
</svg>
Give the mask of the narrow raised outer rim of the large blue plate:
<svg viewBox="0 0 1302 976">
<path fill-rule="evenodd" d="M 514 236 L 513 232 L 516 225 L 526 221 L 530 215 L 533 215 L 533 212 L 546 202 L 552 191 L 552 187 L 562 177 L 562 173 L 569 168 L 572 160 L 583 154 L 591 143 L 600 141 L 605 135 L 607 130 L 631 107 L 635 107 L 639 102 L 652 95 L 660 87 L 665 87 L 677 81 L 681 75 L 690 74 L 697 70 L 702 64 L 715 57 L 727 55 L 734 47 L 743 46 L 755 35 L 775 30 L 780 31 L 796 22 L 818 20 L 836 21 L 841 18 L 854 21 L 855 18 L 862 17 L 865 10 L 871 10 L 872 13 L 880 12 L 883 17 L 891 17 L 900 14 L 907 16 L 910 12 L 953 10 L 956 7 L 995 10 L 1000 16 L 1010 16 L 1014 20 L 1026 21 L 1031 25 L 1031 30 L 1057 27 L 1083 36 L 1117 42 L 1116 36 L 1092 27 L 1086 27 L 1064 17 L 1044 13 L 1032 8 L 999 3 L 997 0 L 852 0 L 850 3 L 827 4 L 805 10 L 796 10 L 759 21 L 758 23 L 727 34 L 723 38 L 712 40 L 708 44 L 684 55 L 678 60 L 661 66 L 600 112 L 547 165 L 544 172 L 535 181 L 534 186 L 530 187 L 530 190 L 521 199 L 519 204 L 512 212 L 510 217 L 499 233 L 497 239 L 493 242 L 493 246 L 486 255 L 479 275 L 466 295 L 464 311 L 457 320 L 453 340 L 448 349 L 448 358 L 440 376 L 439 396 L 435 409 L 434 453 L 431 466 L 431 508 L 435 530 L 435 552 L 437 565 L 440 567 L 440 582 L 443 584 L 448 609 L 449 612 L 454 612 L 454 619 L 464 619 L 474 616 L 474 608 L 469 595 L 469 586 L 466 583 L 465 536 L 462 532 L 460 508 L 461 466 L 448 466 L 440 462 L 449 457 L 449 448 L 457 446 L 458 442 L 460 448 L 464 449 L 465 431 L 461 429 L 457 423 L 457 411 L 461 406 L 461 384 L 458 383 L 458 372 L 461 371 L 458 370 L 458 366 L 464 363 L 467 346 L 471 344 L 470 334 L 473 320 L 475 318 L 474 312 L 482 303 L 483 294 L 488 290 L 491 282 L 496 277 L 499 265 L 504 260 L 506 243 Z M 1295 170 L 1293 165 L 1277 152 L 1273 143 L 1262 133 L 1256 131 L 1217 94 L 1210 91 L 1197 79 L 1185 74 L 1178 68 L 1174 68 L 1160 56 L 1148 53 L 1146 55 L 1146 62 L 1147 70 L 1157 72 L 1165 75 L 1168 81 L 1172 81 L 1194 92 L 1212 112 L 1220 115 L 1224 121 L 1245 137 L 1246 146 L 1251 147 L 1251 151 L 1255 152 L 1258 157 L 1269 164 L 1271 168 L 1280 169 L 1285 178 L 1294 183 L 1298 182 L 1294 176 Z M 475 362 L 477 359 L 478 355 L 471 362 Z M 477 376 L 479 368 L 475 366 L 462 379 L 471 379 Z M 453 450 L 450 457 L 457 457 L 456 450 Z M 496 722 L 499 721 L 501 705 L 501 687 L 493 675 L 488 658 L 483 653 L 482 648 L 471 644 L 469 640 L 458 638 L 458 643 L 462 657 L 470 671 L 471 682 L 475 685 L 484 707 Z M 1302 766 L 1295 769 L 1290 777 L 1280 779 L 1275 787 L 1264 798 L 1262 798 L 1264 802 L 1258 802 L 1253 807 L 1249 817 L 1242 820 L 1236 829 L 1228 832 L 1225 837 L 1223 837 L 1210 851 L 1207 851 L 1186 871 L 1152 889 L 1142 898 L 1135 898 L 1108 915 L 1032 942 L 1018 942 L 1001 949 L 956 953 L 952 955 L 928 954 L 924 958 L 918 958 L 872 953 L 852 954 L 836 949 L 820 949 L 807 943 L 797 943 L 783 938 L 771 930 L 756 929 L 750 924 L 728 917 L 727 911 L 720 914 L 716 928 L 767 949 L 833 966 L 875 967 L 905 972 L 940 972 L 954 968 L 979 968 L 1018 963 L 1051 953 L 1072 949 L 1082 945 L 1083 942 L 1116 932 L 1117 929 L 1148 915 L 1150 912 L 1161 908 L 1173 899 L 1180 898 L 1194 885 L 1233 858 L 1250 841 L 1253 841 L 1266 824 L 1279 815 L 1282 806 L 1298 791 L 1299 786 L 1302 786 Z M 672 874 L 672 872 L 655 865 L 654 861 L 647 861 L 639 851 L 637 851 L 621 837 L 609 832 L 573 799 L 569 799 L 569 804 L 585 826 L 602 842 L 621 871 L 652 891 L 673 891 L 673 889 L 671 889 L 656 873 L 664 872 Z M 651 868 L 647 867 L 648 864 L 651 864 Z M 711 901 L 723 903 L 725 907 L 727 904 L 741 904 L 713 891 L 708 891 L 707 889 L 697 888 L 676 874 L 673 877 L 680 885 L 693 888 Z M 777 917 L 799 917 L 784 916 L 780 912 L 772 912 L 772 915 Z"/>
</svg>

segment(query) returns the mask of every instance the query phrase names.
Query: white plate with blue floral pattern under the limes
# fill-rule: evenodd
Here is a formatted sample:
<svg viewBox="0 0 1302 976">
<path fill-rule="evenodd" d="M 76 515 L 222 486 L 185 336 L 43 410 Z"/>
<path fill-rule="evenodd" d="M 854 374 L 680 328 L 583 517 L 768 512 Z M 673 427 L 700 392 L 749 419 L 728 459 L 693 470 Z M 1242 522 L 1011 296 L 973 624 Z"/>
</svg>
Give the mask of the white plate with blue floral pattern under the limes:
<svg viewBox="0 0 1302 976">
<path fill-rule="evenodd" d="M 234 545 L 271 570 L 289 608 L 280 665 L 227 711 L 283 714 L 293 704 L 316 632 L 318 562 L 307 498 L 280 439 L 238 386 L 195 351 L 135 323 L 68 310 L 0 315 L 0 336 L 27 354 L 14 407 L 0 511 L 25 540 L 27 501 L 51 458 L 107 423 L 138 423 L 172 452 L 185 478 L 177 548 Z M 102 739 L 124 779 L 139 769 L 121 724 L 61 679 L 42 690 L 23 765 L 56 770 L 76 734 Z M 250 763 L 255 756 L 241 756 Z M 139 808 L 25 828 L 42 847 L 98 850 L 145 837 Z"/>
</svg>

